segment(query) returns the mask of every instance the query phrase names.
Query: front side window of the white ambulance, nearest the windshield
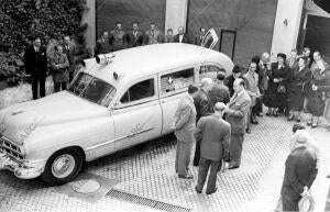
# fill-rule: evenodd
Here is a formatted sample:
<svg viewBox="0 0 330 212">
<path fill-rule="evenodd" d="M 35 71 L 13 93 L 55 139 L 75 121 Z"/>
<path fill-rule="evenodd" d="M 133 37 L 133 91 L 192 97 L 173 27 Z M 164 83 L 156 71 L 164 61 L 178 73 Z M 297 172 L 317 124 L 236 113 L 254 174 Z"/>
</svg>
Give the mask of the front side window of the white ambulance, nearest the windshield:
<svg viewBox="0 0 330 212">
<path fill-rule="evenodd" d="M 121 103 L 129 103 L 155 94 L 154 79 L 147 79 L 133 85 L 120 99 Z"/>
</svg>

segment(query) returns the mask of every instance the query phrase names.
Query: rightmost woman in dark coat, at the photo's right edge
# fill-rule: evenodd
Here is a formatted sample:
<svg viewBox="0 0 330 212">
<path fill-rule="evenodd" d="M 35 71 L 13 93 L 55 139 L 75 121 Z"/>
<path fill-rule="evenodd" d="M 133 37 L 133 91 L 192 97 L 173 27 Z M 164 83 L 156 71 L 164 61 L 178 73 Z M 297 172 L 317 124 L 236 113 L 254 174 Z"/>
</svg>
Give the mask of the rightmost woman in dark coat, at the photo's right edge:
<svg viewBox="0 0 330 212">
<path fill-rule="evenodd" d="M 323 115 L 326 98 L 330 91 L 330 66 L 321 58 L 319 52 L 314 53 L 314 60 L 310 67 L 312 78 L 307 94 L 307 111 L 312 118 L 307 125 L 317 127 L 319 118 Z"/>
</svg>

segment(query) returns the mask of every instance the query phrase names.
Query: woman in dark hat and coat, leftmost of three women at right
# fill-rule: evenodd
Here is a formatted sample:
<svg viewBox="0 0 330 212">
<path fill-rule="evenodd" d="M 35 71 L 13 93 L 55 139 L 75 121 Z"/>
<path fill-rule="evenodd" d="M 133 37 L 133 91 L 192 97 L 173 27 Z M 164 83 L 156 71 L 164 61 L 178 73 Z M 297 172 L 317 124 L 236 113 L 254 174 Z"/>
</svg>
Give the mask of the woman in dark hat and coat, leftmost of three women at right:
<svg viewBox="0 0 330 212">
<path fill-rule="evenodd" d="M 263 98 L 263 102 L 268 107 L 266 115 L 277 116 L 277 109 L 287 107 L 288 80 L 290 68 L 285 64 L 286 55 L 277 54 L 277 63 L 272 64 L 270 74 L 268 89 Z"/>
</svg>

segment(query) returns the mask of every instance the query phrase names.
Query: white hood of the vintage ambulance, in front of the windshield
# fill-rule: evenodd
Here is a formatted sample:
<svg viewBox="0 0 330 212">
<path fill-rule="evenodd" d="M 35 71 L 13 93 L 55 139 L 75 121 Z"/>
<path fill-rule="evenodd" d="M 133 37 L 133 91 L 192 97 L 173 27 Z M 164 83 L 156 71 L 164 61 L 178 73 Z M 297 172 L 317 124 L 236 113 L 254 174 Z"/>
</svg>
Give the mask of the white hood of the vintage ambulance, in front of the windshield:
<svg viewBox="0 0 330 212">
<path fill-rule="evenodd" d="M 37 129 L 109 115 L 107 108 L 62 91 L 0 111 L 0 135 L 23 145 Z"/>
</svg>

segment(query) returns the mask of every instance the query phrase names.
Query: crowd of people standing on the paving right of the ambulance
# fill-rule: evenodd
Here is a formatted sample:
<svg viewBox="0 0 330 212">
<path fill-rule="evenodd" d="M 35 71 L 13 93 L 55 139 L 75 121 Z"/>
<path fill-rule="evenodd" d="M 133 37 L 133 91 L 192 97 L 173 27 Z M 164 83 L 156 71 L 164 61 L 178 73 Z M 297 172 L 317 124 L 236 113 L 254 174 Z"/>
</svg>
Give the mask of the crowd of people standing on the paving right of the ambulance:
<svg viewBox="0 0 330 212">
<path fill-rule="evenodd" d="M 301 112 L 310 114 L 307 125 L 318 126 L 330 92 L 330 66 L 320 52 L 309 57 L 293 49 L 287 59 L 277 54 L 275 63 L 270 54 L 253 56 L 249 68 L 235 65 L 230 76 L 220 69 L 217 80 L 202 78 L 200 86 L 190 85 L 188 93 L 178 103 L 173 129 L 177 137 L 175 170 L 179 178 L 191 179 L 189 171 L 193 144 L 196 142 L 194 166 L 198 166 L 196 192 L 201 193 L 209 172 L 206 193 L 217 191 L 219 170 L 239 168 L 245 133 L 251 124 L 258 124 L 267 107 L 268 116 L 286 115 L 295 120 L 289 138 L 290 154 L 278 205 L 283 211 L 298 211 L 301 198 L 310 197 L 316 179 L 319 150 L 301 122 Z M 228 163 L 228 166 L 227 166 Z M 279 210 L 279 211 L 280 211 Z"/>
</svg>

